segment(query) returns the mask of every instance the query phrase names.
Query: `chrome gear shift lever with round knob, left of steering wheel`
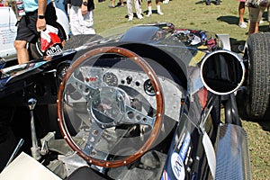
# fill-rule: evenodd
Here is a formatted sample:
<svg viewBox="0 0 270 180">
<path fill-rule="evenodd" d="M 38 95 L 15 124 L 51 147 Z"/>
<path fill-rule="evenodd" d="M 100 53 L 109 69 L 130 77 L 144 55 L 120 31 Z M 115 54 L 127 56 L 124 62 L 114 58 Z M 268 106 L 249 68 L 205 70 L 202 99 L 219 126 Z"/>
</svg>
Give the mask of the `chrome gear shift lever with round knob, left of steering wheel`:
<svg viewBox="0 0 270 180">
<path fill-rule="evenodd" d="M 35 122 L 34 122 L 34 116 L 33 116 L 33 109 L 35 108 L 37 104 L 37 100 L 35 98 L 31 98 L 28 100 L 28 107 L 30 110 L 30 116 L 31 116 L 31 156 L 34 157 L 36 160 L 40 159 L 40 147 L 38 146 L 38 139 L 36 135 L 36 128 L 35 128 Z"/>
</svg>

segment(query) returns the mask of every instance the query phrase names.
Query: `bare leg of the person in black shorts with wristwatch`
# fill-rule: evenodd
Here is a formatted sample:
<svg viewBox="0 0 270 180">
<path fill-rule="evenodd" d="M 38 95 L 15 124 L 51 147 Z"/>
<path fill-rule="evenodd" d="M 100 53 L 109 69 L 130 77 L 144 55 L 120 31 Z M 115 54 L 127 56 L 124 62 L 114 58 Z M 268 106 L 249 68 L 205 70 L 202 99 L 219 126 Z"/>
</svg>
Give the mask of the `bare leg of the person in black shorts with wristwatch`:
<svg viewBox="0 0 270 180">
<path fill-rule="evenodd" d="M 15 40 L 14 47 L 17 51 L 18 64 L 23 64 L 29 61 L 28 50 L 26 49 L 27 41 Z"/>
</svg>

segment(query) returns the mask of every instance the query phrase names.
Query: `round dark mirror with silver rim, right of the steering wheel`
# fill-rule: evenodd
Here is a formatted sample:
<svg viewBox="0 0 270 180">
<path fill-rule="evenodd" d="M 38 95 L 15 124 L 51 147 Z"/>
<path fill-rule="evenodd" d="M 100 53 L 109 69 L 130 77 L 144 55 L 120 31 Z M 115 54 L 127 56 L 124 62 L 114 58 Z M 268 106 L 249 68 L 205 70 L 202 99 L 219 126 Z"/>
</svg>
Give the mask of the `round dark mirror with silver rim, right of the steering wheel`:
<svg viewBox="0 0 270 180">
<path fill-rule="evenodd" d="M 227 50 L 217 50 L 202 60 L 201 78 L 214 94 L 231 94 L 244 82 L 245 66 L 238 56 Z"/>
</svg>

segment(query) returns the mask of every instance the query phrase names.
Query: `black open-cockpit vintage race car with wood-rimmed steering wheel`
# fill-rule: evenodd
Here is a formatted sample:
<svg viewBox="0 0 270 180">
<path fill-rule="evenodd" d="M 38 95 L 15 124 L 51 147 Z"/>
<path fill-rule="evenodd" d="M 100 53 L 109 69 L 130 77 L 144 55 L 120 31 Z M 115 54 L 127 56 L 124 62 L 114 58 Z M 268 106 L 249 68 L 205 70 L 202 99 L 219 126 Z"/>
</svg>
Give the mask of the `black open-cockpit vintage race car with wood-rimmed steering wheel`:
<svg viewBox="0 0 270 180">
<path fill-rule="evenodd" d="M 266 115 L 270 34 L 241 57 L 172 23 L 112 31 L 2 62 L 0 179 L 251 179 L 238 106 Z"/>
</svg>

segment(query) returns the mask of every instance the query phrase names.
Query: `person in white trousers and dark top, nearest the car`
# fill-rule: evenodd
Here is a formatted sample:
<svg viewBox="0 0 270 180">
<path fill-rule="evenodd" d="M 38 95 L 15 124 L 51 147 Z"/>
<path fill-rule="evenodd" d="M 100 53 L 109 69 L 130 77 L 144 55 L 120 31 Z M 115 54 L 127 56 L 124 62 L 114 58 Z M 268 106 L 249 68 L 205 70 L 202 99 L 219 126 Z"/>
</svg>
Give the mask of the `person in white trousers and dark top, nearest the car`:
<svg viewBox="0 0 270 180">
<path fill-rule="evenodd" d="M 95 34 L 94 0 L 65 0 L 73 35 Z"/>
</svg>

